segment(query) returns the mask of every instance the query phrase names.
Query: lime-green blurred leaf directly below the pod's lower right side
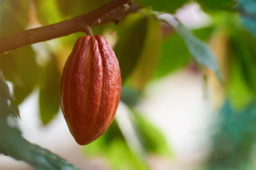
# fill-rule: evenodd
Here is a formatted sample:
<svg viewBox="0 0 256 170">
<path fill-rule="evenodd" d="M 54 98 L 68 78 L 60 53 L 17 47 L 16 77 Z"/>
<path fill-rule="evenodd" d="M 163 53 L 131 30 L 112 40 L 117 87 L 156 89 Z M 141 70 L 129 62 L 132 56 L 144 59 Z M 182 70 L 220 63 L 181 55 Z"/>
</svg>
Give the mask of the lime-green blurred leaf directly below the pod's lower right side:
<svg viewBox="0 0 256 170">
<path fill-rule="evenodd" d="M 116 120 L 99 139 L 83 148 L 88 157 L 104 156 L 113 170 L 142 170 L 146 166 L 131 152 Z M 120 158 L 120 154 L 122 158 Z"/>
</svg>

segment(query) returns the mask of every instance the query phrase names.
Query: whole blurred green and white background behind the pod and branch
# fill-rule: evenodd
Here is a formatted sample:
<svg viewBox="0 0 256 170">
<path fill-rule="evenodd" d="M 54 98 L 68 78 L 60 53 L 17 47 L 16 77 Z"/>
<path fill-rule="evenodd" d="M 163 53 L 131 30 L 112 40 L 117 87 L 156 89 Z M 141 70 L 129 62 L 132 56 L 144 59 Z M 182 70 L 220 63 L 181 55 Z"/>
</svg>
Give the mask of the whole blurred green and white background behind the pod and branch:
<svg viewBox="0 0 256 170">
<path fill-rule="evenodd" d="M 1 0 L 0 36 L 56 23 L 106 2 Z M 63 65 L 84 33 L 1 54 L 0 68 L 15 93 L 23 137 L 81 170 L 256 169 L 256 20 L 204 4 L 186 1 L 175 8 L 176 17 L 211 47 L 225 85 L 196 62 L 182 37 L 165 23 L 136 13 L 118 25 L 93 28 L 113 45 L 125 81 L 114 122 L 86 146 L 71 136 L 58 96 Z M 241 8 L 253 5 L 252 0 Z M 0 155 L 0 170 L 32 168 Z"/>
</svg>

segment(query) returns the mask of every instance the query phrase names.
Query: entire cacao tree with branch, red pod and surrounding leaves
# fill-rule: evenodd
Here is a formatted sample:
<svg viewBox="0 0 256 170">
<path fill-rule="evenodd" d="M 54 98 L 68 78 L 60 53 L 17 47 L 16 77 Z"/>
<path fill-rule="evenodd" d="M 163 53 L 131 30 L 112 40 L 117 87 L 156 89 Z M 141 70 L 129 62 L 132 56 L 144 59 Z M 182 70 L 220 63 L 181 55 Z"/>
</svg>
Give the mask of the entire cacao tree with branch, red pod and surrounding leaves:
<svg viewBox="0 0 256 170">
<path fill-rule="evenodd" d="M 184 26 L 176 14 L 191 3 L 211 23 Z M 220 117 L 202 169 L 253 170 L 255 45 L 256 0 L 0 0 L 0 153 L 36 170 L 79 169 L 22 136 L 19 107 L 38 91 L 43 126 L 61 112 L 87 155 L 151 169 L 148 154 L 172 151 L 136 105 L 148 84 L 194 64 Z"/>
</svg>

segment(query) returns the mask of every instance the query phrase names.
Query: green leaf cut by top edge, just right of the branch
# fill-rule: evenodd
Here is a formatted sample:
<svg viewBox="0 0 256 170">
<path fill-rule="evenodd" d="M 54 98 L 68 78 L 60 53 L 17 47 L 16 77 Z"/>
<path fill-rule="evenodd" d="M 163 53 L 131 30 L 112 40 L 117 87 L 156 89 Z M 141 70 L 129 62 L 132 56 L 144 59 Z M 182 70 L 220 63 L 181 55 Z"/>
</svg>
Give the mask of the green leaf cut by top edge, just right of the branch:
<svg viewBox="0 0 256 170">
<path fill-rule="evenodd" d="M 174 13 L 178 8 L 190 2 L 190 0 L 137 0 L 137 2 L 150 6 L 154 11 Z"/>
</svg>

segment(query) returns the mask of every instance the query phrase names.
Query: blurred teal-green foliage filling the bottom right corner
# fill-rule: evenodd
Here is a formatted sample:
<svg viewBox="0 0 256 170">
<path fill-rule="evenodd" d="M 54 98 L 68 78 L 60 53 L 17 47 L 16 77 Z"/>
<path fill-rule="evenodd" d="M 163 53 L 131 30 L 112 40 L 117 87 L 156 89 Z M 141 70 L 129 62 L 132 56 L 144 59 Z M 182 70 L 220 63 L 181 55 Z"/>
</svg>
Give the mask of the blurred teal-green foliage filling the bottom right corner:
<svg viewBox="0 0 256 170">
<path fill-rule="evenodd" d="M 207 170 L 252 170 L 250 154 L 256 143 L 256 105 L 237 111 L 227 101 L 219 113 L 220 130 L 213 138 L 213 153 Z"/>
</svg>

